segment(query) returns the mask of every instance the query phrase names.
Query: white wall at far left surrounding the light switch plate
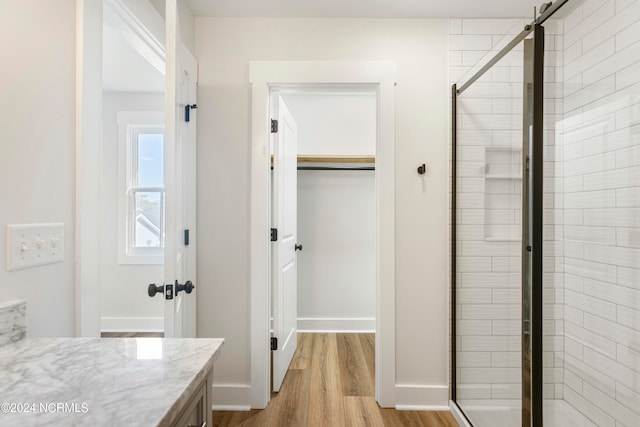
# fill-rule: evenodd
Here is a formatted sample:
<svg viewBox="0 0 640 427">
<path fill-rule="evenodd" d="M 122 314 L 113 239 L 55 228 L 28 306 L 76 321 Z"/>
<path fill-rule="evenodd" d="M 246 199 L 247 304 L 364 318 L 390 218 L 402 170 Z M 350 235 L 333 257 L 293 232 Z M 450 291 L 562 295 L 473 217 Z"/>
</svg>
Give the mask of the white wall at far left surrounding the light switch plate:
<svg viewBox="0 0 640 427">
<path fill-rule="evenodd" d="M 29 336 L 74 333 L 75 2 L 0 6 L 0 299 Z M 6 224 L 62 222 L 64 262 L 7 272 Z"/>
</svg>

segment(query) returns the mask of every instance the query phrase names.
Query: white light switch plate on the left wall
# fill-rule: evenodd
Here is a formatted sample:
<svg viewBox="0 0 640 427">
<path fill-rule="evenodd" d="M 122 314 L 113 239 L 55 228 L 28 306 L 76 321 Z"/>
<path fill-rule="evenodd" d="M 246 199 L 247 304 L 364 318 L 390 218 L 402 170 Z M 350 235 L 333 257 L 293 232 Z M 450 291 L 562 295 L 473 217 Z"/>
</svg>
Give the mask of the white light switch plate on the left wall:
<svg viewBox="0 0 640 427">
<path fill-rule="evenodd" d="M 64 224 L 7 225 L 7 271 L 64 261 Z"/>
</svg>

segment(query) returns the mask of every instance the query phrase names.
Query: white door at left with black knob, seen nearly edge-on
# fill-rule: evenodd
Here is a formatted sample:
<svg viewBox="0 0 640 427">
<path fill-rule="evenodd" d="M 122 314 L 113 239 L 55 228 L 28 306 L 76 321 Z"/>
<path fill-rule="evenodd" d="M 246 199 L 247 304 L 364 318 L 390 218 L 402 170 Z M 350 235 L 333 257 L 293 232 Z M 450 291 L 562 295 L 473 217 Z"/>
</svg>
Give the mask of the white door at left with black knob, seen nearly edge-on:
<svg viewBox="0 0 640 427">
<path fill-rule="evenodd" d="M 174 1 L 167 2 L 166 15 L 164 334 L 195 337 L 196 114 L 191 107 L 196 105 L 197 62 L 180 41 Z"/>
</svg>

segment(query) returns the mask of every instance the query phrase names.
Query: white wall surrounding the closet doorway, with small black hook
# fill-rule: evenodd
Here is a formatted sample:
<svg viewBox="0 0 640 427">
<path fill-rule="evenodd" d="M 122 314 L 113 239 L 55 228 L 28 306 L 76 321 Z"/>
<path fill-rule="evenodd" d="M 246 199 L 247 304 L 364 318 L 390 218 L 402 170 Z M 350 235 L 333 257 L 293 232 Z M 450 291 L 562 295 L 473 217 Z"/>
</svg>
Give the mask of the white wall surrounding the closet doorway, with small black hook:
<svg viewBox="0 0 640 427">
<path fill-rule="evenodd" d="M 249 384 L 256 351 L 249 347 L 249 61 L 393 60 L 396 381 L 421 390 L 420 404 L 446 404 L 447 22 L 196 18 L 196 57 L 198 230 L 206 236 L 198 242 L 198 332 L 226 339 L 216 383 Z M 421 177 L 423 162 L 431 171 Z M 408 399 L 401 392 L 399 400 Z"/>
</svg>

